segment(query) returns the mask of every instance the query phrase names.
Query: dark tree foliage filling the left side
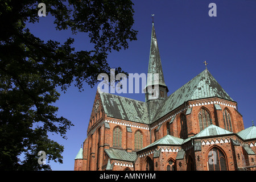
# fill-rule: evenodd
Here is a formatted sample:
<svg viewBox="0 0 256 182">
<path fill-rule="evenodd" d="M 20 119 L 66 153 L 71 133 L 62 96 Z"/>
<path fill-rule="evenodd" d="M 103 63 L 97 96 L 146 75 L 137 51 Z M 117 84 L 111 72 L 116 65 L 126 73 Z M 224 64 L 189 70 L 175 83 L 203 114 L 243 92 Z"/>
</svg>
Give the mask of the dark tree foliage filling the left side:
<svg viewBox="0 0 256 182">
<path fill-rule="evenodd" d="M 26 23 L 39 22 L 39 3 L 46 4 L 57 30 L 88 33 L 94 49 L 76 52 L 72 38 L 60 44 L 31 34 Z M 40 150 L 48 160 L 62 163 L 64 147 L 48 133 L 66 138 L 73 124 L 56 114 L 56 88 L 65 91 L 75 84 L 82 90 L 85 83 L 94 86 L 100 73 L 110 75 L 108 53 L 136 40 L 132 6 L 130 0 L 1 1 L 0 169 L 51 169 L 38 164 Z"/>
</svg>

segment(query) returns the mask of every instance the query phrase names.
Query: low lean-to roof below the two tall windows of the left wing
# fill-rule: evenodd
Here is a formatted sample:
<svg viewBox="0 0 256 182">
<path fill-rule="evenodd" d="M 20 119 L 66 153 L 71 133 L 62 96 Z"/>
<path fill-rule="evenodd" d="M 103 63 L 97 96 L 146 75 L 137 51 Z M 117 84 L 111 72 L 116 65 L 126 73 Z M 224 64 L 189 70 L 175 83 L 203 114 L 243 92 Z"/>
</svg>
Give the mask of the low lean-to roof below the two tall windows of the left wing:
<svg viewBox="0 0 256 182">
<path fill-rule="evenodd" d="M 126 150 L 121 150 L 117 148 L 104 149 L 106 154 L 110 159 L 122 160 L 127 162 L 134 162 L 137 158 L 136 152 L 127 152 Z"/>
</svg>

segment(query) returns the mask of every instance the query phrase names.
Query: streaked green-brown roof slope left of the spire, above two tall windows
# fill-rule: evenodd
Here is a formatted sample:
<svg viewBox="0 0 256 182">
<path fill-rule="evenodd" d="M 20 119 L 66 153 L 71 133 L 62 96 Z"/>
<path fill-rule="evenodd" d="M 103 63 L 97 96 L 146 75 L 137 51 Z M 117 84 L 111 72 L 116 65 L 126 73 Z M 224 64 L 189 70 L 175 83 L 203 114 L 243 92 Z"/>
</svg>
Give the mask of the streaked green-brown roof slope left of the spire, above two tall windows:
<svg viewBox="0 0 256 182">
<path fill-rule="evenodd" d="M 108 117 L 139 123 L 149 123 L 147 104 L 131 98 L 99 92 L 105 113 Z"/>
</svg>

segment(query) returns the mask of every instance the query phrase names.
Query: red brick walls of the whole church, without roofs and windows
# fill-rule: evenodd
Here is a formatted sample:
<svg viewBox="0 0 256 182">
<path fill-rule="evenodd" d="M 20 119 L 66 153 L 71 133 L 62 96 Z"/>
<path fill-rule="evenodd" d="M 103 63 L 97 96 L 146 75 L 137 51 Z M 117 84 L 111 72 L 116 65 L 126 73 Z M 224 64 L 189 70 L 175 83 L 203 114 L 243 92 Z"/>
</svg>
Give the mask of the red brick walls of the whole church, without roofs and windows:
<svg viewBox="0 0 256 182">
<path fill-rule="evenodd" d="M 96 98 L 94 102 L 100 100 L 100 95 L 98 92 L 96 93 Z M 216 110 L 214 108 L 214 104 L 207 104 L 199 106 L 199 103 L 202 102 L 214 102 L 220 101 L 224 103 L 224 105 L 220 104 L 222 110 Z M 226 106 L 226 105 L 230 106 Z M 137 130 L 141 131 L 143 134 L 143 147 L 148 146 L 150 143 L 155 141 L 155 134 L 154 131 L 157 129 L 159 125 L 162 124 L 159 131 L 156 132 L 156 140 L 164 137 L 167 135 L 167 123 L 171 121 L 171 116 L 175 116 L 174 121 L 170 125 L 170 134 L 174 135 L 174 137 L 180 138 L 180 115 L 186 114 L 187 106 L 193 105 L 191 114 L 185 115 L 187 119 L 187 130 L 188 130 L 188 137 L 191 137 L 200 132 L 199 128 L 199 121 L 198 121 L 198 113 L 202 107 L 205 107 L 210 113 L 212 118 L 212 123 L 219 127 L 224 127 L 224 120 L 223 120 L 223 110 L 226 108 L 229 110 L 230 115 L 232 116 L 232 126 L 233 132 L 237 133 L 244 129 L 242 116 L 234 109 L 233 106 L 236 106 L 236 102 L 225 101 L 221 100 L 220 98 L 209 98 L 205 100 L 197 100 L 197 101 L 188 101 L 184 105 L 181 105 L 179 108 L 175 109 L 171 113 L 165 115 L 163 118 L 160 118 L 158 121 L 152 123 L 150 126 L 124 121 L 122 119 L 116 118 L 109 118 L 104 113 L 101 101 L 98 111 L 100 113 L 94 113 L 94 109 L 92 109 L 92 114 L 90 117 L 89 126 L 88 126 L 88 138 L 84 142 L 83 146 L 83 156 L 84 160 L 76 160 L 75 161 L 75 170 L 83 169 L 83 170 L 105 170 L 106 164 L 108 163 L 108 156 L 105 154 L 104 149 L 113 147 L 113 129 L 114 127 L 118 126 L 122 130 L 122 149 L 127 150 L 128 152 L 134 151 L 134 134 Z M 93 104 L 94 108 L 94 104 Z M 97 114 L 97 117 L 96 117 Z M 96 119 L 97 118 L 97 119 Z M 110 129 L 106 128 L 104 122 L 107 121 L 109 123 Z M 127 132 L 126 125 L 133 125 L 131 126 L 132 132 Z M 140 127 L 140 128 L 139 128 Z M 146 129 L 143 129 L 146 127 Z M 148 129 L 150 127 L 150 130 Z M 151 134 L 150 134 L 151 133 Z M 150 138 L 151 137 L 151 138 Z M 220 139 L 220 138 L 212 138 L 213 140 Z M 212 140 L 210 139 L 210 140 Z M 209 141 L 210 142 L 210 141 Z M 229 170 L 235 170 L 242 165 L 242 156 L 238 154 L 242 154 L 242 147 L 241 146 L 233 146 L 230 142 L 229 143 L 218 143 L 218 144 L 207 144 L 201 146 L 201 151 L 193 151 L 189 149 L 185 153 L 185 158 L 176 161 L 176 169 L 177 170 L 187 170 L 189 160 L 192 159 L 193 163 L 195 164 L 194 167 L 197 170 L 208 170 L 207 168 L 207 157 L 208 152 L 211 147 L 218 146 L 226 155 L 226 161 Z M 170 148 L 170 146 L 169 146 Z M 256 152 L 256 147 L 253 148 L 254 152 Z M 166 170 L 166 165 L 169 159 L 176 159 L 177 152 L 160 152 L 160 156 L 158 158 L 153 158 L 154 154 L 146 155 L 141 158 L 138 158 L 134 164 L 134 168 L 129 167 L 129 169 L 133 170 L 144 170 L 146 168 L 146 158 L 150 157 L 154 162 L 155 170 Z M 188 157 L 189 156 L 189 157 Z M 238 157 L 240 156 L 240 157 Z M 250 156 L 249 156 L 250 158 Z M 254 160 L 256 160 L 254 155 Z M 114 163 L 115 161 L 111 161 Z M 117 161 L 116 161 L 117 162 Z M 97 166 L 98 163 L 98 166 Z M 118 162 L 117 162 L 118 163 Z M 119 165 L 114 165 L 113 170 L 123 170 L 127 166 L 121 163 Z M 181 164 L 181 165 L 179 165 Z M 131 165 L 131 164 L 130 164 Z"/>
</svg>

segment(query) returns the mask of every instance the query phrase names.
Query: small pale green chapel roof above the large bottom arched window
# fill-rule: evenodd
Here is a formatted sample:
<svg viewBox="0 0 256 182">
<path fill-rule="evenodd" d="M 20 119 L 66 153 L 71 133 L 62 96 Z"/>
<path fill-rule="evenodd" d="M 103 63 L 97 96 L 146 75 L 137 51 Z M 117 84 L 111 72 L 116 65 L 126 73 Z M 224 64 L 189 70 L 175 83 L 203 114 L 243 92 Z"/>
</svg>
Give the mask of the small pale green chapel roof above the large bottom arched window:
<svg viewBox="0 0 256 182">
<path fill-rule="evenodd" d="M 197 137 L 211 137 L 211 136 L 217 136 L 217 135 L 225 135 L 225 134 L 233 134 L 232 132 L 222 129 L 221 127 L 218 127 L 216 125 L 210 125 L 206 127 L 204 130 L 200 131 L 198 134 L 193 136 L 193 138 Z"/>
</svg>

